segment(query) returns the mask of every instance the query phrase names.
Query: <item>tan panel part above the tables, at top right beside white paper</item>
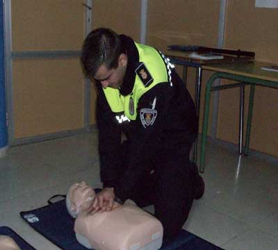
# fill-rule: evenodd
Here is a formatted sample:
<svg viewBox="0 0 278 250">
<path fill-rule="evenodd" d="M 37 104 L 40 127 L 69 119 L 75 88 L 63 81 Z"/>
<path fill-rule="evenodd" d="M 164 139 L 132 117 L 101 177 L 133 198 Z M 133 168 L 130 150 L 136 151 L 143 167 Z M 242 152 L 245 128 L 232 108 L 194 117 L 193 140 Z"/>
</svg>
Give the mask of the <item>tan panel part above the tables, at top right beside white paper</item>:
<svg viewBox="0 0 278 250">
<path fill-rule="evenodd" d="M 256 52 L 278 63 L 278 8 L 255 8 L 254 0 L 228 1 L 225 47 Z"/>
</svg>

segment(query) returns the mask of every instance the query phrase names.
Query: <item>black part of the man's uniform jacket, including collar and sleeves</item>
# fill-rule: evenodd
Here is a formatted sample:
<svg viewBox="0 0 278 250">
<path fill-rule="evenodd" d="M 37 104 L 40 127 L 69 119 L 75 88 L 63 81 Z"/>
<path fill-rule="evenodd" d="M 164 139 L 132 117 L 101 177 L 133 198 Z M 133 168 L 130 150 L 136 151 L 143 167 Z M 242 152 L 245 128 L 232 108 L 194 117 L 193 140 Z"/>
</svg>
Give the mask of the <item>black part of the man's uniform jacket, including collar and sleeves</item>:
<svg viewBox="0 0 278 250">
<path fill-rule="evenodd" d="M 120 94 L 127 95 L 133 90 L 139 55 L 131 38 L 125 35 L 120 38 L 128 57 Z M 130 197 L 136 181 L 159 168 L 154 159 L 182 156 L 184 148 L 193 143 L 197 135 L 195 106 L 174 69 L 172 86 L 169 82 L 159 83 L 140 97 L 135 121 L 117 122 L 99 82 L 97 90 L 101 181 L 104 187 L 114 187 L 117 197 L 125 200 Z M 156 111 L 154 121 L 147 122 L 147 125 L 141 115 L 146 108 Z M 124 153 L 122 133 L 127 137 Z"/>
</svg>

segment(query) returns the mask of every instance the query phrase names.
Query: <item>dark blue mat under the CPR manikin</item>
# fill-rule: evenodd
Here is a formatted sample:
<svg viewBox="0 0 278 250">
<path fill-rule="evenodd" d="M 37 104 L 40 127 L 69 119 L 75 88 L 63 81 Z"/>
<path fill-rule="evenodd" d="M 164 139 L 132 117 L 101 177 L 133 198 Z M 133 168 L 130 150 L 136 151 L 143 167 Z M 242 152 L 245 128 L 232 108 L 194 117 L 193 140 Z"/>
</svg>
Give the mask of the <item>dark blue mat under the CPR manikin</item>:
<svg viewBox="0 0 278 250">
<path fill-rule="evenodd" d="M 21 212 L 22 218 L 38 233 L 64 250 L 86 250 L 77 242 L 74 233 L 74 219 L 67 213 L 65 199 L 42 208 Z M 163 250 L 220 250 L 202 238 L 182 230 L 177 240 Z"/>
</svg>

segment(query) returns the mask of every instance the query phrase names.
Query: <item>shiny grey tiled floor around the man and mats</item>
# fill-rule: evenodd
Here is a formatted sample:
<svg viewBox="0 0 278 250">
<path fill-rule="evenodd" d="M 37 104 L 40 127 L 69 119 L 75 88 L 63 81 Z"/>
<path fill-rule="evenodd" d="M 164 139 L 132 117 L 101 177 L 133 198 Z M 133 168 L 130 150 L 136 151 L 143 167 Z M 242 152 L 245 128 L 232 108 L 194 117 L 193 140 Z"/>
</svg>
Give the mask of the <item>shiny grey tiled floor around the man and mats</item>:
<svg viewBox="0 0 278 250">
<path fill-rule="evenodd" d="M 72 183 L 101 187 L 95 132 L 11 147 L 0 159 L 0 226 L 9 226 L 38 250 L 58 247 L 19 216 L 65 194 Z M 208 144 L 204 197 L 193 204 L 184 228 L 223 249 L 277 250 L 278 165 L 239 158 Z M 148 208 L 152 210 L 152 208 Z"/>
</svg>

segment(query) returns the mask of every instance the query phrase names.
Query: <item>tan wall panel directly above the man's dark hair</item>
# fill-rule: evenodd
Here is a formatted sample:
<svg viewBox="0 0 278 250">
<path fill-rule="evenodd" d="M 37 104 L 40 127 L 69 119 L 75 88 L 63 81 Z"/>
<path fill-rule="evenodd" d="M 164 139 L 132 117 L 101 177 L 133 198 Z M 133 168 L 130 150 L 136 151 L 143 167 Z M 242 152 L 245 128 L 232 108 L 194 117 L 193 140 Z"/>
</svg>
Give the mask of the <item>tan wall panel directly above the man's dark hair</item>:
<svg viewBox="0 0 278 250">
<path fill-rule="evenodd" d="M 92 28 L 112 28 L 117 33 L 140 38 L 139 0 L 94 0 L 92 6 Z"/>
</svg>

